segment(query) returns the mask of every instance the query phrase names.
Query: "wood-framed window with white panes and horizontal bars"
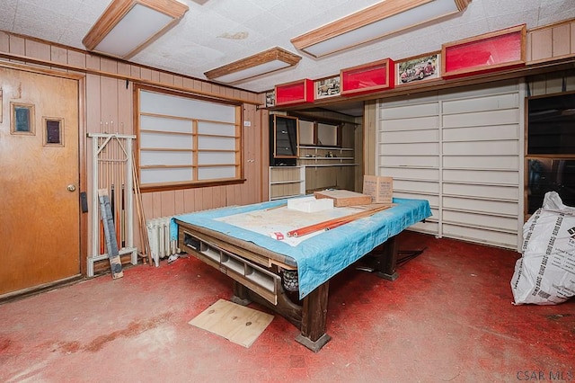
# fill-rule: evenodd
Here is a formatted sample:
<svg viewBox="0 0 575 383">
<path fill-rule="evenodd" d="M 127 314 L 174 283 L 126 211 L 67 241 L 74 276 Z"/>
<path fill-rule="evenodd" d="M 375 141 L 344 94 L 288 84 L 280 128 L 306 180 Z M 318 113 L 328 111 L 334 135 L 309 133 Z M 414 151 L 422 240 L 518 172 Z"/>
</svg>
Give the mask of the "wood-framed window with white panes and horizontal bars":
<svg viewBox="0 0 575 383">
<path fill-rule="evenodd" d="M 137 158 L 142 188 L 242 178 L 241 107 L 137 86 Z"/>
</svg>

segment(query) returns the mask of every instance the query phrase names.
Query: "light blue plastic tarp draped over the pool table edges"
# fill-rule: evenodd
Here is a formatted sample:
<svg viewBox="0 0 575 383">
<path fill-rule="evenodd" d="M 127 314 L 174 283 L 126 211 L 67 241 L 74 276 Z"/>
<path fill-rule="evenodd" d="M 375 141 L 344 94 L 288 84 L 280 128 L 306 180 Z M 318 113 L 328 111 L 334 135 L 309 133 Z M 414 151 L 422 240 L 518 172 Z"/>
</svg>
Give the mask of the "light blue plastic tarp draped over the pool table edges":
<svg viewBox="0 0 575 383">
<path fill-rule="evenodd" d="M 332 276 L 341 272 L 349 264 L 358 261 L 377 245 L 383 244 L 391 236 L 395 236 L 401 233 L 403 229 L 431 216 L 431 209 L 427 200 L 394 198 L 393 202 L 394 206 L 390 209 L 335 227 L 319 235 L 310 236 L 298 245 L 288 245 L 272 236 L 266 236 L 219 220 L 236 214 L 276 208 L 286 204 L 286 200 L 272 200 L 246 206 L 204 210 L 175 218 L 191 225 L 206 227 L 227 236 L 252 242 L 275 253 L 293 258 L 297 265 L 299 296 L 304 298 L 323 282 L 329 281 Z M 176 239 L 178 230 L 174 220 L 172 220 L 170 231 L 172 238 Z"/>
</svg>

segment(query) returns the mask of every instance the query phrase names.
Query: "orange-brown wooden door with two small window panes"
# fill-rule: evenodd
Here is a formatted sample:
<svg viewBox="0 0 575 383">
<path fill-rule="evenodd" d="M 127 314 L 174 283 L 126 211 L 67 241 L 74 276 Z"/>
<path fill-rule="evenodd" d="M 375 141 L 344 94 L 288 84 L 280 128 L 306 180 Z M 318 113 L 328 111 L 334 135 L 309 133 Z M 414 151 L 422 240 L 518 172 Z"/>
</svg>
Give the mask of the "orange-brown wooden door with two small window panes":
<svg viewBox="0 0 575 383">
<path fill-rule="evenodd" d="M 80 272 L 78 82 L 0 67 L 0 296 Z"/>
</svg>

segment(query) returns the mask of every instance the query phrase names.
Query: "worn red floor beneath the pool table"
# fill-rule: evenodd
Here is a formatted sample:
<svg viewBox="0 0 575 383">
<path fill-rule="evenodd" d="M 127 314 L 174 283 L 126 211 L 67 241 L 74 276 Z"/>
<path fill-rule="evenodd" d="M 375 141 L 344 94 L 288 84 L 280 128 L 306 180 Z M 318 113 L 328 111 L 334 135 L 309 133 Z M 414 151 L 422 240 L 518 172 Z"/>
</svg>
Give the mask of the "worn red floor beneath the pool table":
<svg viewBox="0 0 575 383">
<path fill-rule="evenodd" d="M 190 257 L 1 305 L 0 381 L 575 381 L 575 299 L 513 306 L 519 254 L 411 232 L 401 247 L 425 251 L 397 281 L 332 280 L 332 341 L 318 353 L 281 316 L 247 349 L 188 325 L 232 294 Z"/>
</svg>

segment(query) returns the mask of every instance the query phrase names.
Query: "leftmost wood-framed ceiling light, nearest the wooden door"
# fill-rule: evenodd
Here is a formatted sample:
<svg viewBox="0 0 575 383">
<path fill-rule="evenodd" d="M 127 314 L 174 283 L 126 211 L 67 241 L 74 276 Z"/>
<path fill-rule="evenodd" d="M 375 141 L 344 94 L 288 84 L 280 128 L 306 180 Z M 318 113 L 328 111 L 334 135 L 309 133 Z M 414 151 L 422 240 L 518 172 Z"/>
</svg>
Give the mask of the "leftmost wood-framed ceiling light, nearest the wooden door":
<svg viewBox="0 0 575 383">
<path fill-rule="evenodd" d="M 188 6 L 175 0 L 114 0 L 82 42 L 88 50 L 130 58 L 179 22 Z"/>
</svg>

